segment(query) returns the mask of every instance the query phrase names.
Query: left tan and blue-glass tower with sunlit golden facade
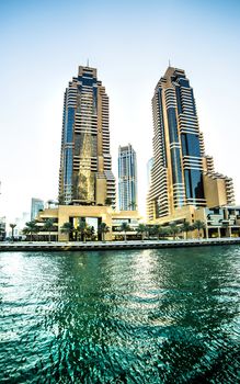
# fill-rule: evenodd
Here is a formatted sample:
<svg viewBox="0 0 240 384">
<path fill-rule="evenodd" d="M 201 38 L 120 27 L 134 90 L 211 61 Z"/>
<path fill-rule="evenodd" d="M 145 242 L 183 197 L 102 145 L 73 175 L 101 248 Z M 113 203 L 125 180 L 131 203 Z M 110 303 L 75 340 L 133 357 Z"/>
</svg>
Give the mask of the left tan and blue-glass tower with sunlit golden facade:
<svg viewBox="0 0 240 384">
<path fill-rule="evenodd" d="M 96 69 L 79 67 L 65 92 L 59 203 L 115 207 L 108 129 L 108 97 Z"/>
</svg>

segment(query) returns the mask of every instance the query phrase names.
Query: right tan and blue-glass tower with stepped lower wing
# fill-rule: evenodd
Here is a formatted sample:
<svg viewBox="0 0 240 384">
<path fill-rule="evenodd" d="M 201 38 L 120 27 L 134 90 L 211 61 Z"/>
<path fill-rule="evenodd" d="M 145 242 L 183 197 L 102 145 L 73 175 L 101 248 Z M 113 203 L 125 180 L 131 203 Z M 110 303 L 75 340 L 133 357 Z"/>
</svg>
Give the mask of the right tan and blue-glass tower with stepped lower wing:
<svg viewBox="0 0 240 384">
<path fill-rule="evenodd" d="M 152 98 L 153 165 L 148 193 L 149 221 L 183 206 L 235 203 L 232 180 L 216 173 L 205 155 L 195 99 L 184 70 L 169 67 Z"/>
</svg>

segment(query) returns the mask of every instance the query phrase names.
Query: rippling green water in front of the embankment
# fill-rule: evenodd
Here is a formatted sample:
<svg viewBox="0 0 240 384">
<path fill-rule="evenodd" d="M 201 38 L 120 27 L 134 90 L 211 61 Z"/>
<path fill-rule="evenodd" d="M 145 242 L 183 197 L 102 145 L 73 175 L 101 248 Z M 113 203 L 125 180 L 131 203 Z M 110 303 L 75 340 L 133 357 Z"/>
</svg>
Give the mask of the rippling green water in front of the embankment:
<svg viewBox="0 0 240 384">
<path fill-rule="evenodd" d="M 237 383 L 240 247 L 0 253 L 0 383 Z"/>
</svg>

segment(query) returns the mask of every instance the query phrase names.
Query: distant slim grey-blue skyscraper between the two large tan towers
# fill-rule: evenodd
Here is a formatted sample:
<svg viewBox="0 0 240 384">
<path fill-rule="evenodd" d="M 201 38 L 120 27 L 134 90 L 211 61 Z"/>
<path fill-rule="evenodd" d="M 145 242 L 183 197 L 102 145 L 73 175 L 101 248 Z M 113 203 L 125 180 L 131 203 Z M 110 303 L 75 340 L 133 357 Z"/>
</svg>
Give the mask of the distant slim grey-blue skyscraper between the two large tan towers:
<svg viewBox="0 0 240 384">
<path fill-rule="evenodd" d="M 130 144 L 118 148 L 118 202 L 121 211 L 137 208 L 137 159 Z"/>
</svg>

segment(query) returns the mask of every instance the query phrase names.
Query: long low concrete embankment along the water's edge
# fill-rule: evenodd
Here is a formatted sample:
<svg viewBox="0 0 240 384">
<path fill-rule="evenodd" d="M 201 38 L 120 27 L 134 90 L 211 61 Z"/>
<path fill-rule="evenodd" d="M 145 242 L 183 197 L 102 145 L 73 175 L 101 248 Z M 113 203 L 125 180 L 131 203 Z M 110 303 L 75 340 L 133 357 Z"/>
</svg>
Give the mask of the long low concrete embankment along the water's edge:
<svg viewBox="0 0 240 384">
<path fill-rule="evenodd" d="M 122 250 L 122 249 L 159 249 L 180 247 L 206 247 L 240 245 L 240 237 L 191 239 L 191 240 L 144 240 L 144 241 L 72 241 L 72 242 L 0 242 L 0 251 L 73 251 L 73 250 Z"/>
</svg>

